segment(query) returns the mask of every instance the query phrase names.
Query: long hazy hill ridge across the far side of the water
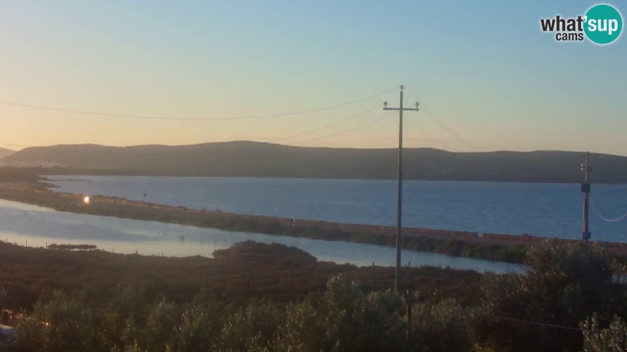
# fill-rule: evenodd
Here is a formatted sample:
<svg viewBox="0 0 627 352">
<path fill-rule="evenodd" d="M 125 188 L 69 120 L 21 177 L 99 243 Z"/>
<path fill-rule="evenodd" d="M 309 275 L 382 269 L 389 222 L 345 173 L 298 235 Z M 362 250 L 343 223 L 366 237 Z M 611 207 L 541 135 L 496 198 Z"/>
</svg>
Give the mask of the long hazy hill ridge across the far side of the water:
<svg viewBox="0 0 627 352">
<path fill-rule="evenodd" d="M 292 147 L 261 142 L 31 147 L 3 165 L 58 165 L 63 173 L 395 179 L 398 150 Z M 581 152 L 447 152 L 406 148 L 404 175 L 423 180 L 579 182 Z M 627 183 L 627 157 L 593 154 L 594 182 Z M 56 171 L 55 171 L 56 172 Z"/>
</svg>

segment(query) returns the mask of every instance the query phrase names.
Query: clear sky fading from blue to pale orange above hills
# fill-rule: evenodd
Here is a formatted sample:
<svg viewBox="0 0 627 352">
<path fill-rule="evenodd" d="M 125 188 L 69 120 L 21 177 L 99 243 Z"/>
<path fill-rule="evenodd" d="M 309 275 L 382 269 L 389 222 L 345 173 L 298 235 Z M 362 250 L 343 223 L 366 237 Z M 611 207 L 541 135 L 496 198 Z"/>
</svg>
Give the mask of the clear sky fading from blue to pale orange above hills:
<svg viewBox="0 0 627 352">
<path fill-rule="evenodd" d="M 540 30 L 594 4 L 3 0 L 0 101 L 172 120 L 0 103 L 0 146 L 391 148 L 398 113 L 380 106 L 398 106 L 402 84 L 404 105 L 423 107 L 404 113 L 405 147 L 627 155 L 626 36 L 599 46 Z"/>
</svg>

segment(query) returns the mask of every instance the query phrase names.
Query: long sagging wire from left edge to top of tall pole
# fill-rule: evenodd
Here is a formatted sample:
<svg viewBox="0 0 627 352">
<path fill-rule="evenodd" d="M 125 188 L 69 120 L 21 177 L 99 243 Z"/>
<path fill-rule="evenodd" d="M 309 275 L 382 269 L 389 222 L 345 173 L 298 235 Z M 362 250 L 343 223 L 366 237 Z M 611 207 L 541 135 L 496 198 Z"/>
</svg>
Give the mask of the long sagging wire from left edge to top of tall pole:
<svg viewBox="0 0 627 352">
<path fill-rule="evenodd" d="M 216 117 L 216 118 L 174 118 L 174 117 L 162 117 L 162 116 L 150 116 L 150 115 L 127 115 L 127 114 L 114 114 L 114 113 L 103 113 L 100 111 L 87 111 L 87 110 L 73 110 L 73 109 L 65 109 L 65 108 L 55 108 L 51 106 L 42 106 L 42 105 L 31 105 L 24 103 L 15 103 L 13 101 L 4 101 L 0 100 L 0 103 L 4 105 L 12 105 L 19 106 L 22 108 L 33 108 L 39 110 L 48 110 L 48 111 L 58 111 L 64 113 L 74 113 L 74 114 L 82 114 L 82 115 L 93 115 L 93 116 L 108 116 L 108 117 L 120 117 L 120 118 L 144 118 L 149 120 L 174 120 L 174 121 L 229 121 L 229 120 L 244 120 L 244 119 L 253 119 L 253 118 L 271 118 L 271 117 L 280 117 L 280 116 L 292 116 L 292 115 L 303 115 L 306 113 L 314 113 L 318 111 L 331 110 L 334 108 L 340 108 L 342 106 L 352 105 L 354 103 L 359 103 L 364 100 L 369 100 L 372 98 L 376 98 L 377 96 L 384 95 L 393 91 L 396 88 L 392 88 L 386 91 L 382 91 L 381 93 L 376 93 L 373 95 L 366 96 L 364 98 L 359 98 L 356 100 L 346 101 L 344 103 L 339 103 L 330 106 L 323 106 L 321 108 L 314 108 L 309 110 L 301 110 L 301 111 L 292 111 L 288 113 L 277 113 L 273 115 L 260 115 L 260 116 L 241 116 L 241 117 Z"/>
</svg>

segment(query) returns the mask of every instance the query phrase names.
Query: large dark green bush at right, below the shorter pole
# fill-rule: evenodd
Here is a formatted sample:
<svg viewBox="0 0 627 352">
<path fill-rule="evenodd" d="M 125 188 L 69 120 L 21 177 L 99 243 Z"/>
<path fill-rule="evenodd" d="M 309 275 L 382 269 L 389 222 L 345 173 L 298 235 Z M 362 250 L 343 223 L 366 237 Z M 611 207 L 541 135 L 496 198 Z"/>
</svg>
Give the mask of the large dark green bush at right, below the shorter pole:
<svg viewBox="0 0 627 352">
<path fill-rule="evenodd" d="M 526 256 L 525 274 L 485 274 L 483 312 L 492 316 L 475 324 L 478 336 L 498 351 L 576 351 L 582 336 L 500 318 L 576 327 L 593 312 L 611 319 L 622 306 L 621 287 L 611 281 L 611 261 L 599 246 L 546 241 Z M 617 291 L 619 290 L 619 291 Z"/>
</svg>

